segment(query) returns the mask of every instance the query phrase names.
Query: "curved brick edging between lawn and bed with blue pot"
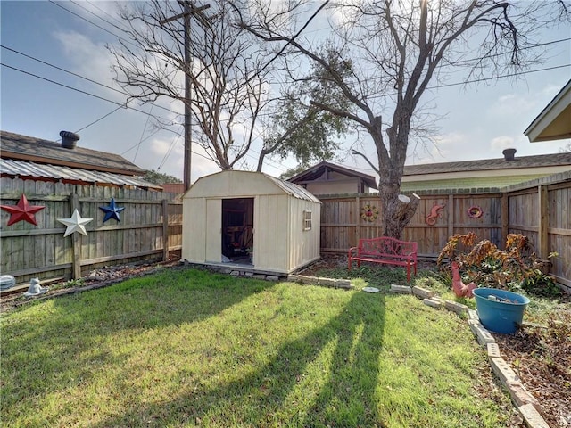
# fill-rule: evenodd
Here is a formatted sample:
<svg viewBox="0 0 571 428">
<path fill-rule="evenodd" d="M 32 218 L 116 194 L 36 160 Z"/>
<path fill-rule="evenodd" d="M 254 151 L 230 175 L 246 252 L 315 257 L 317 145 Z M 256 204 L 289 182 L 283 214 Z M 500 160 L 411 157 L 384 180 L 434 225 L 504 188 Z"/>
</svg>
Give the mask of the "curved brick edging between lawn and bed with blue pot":
<svg viewBox="0 0 571 428">
<path fill-rule="evenodd" d="M 476 341 L 487 349 L 488 359 L 492 366 L 493 373 L 500 379 L 503 387 L 509 392 L 514 406 L 524 418 L 525 424 L 530 428 L 550 428 L 539 413 L 541 408 L 537 399 L 534 398 L 521 383 L 519 376 L 514 372 L 509 364 L 501 358 L 500 347 L 496 343 L 492 334 L 488 332 L 484 325 L 480 323 L 476 310 L 469 309 L 468 306 L 462 305 L 452 300 L 442 300 L 431 290 L 415 286 L 391 284 L 391 292 L 414 294 L 418 299 L 422 299 L 423 303 L 431 308 L 445 308 L 459 315 L 468 317 L 468 325 L 472 333 L 476 336 Z"/>
</svg>

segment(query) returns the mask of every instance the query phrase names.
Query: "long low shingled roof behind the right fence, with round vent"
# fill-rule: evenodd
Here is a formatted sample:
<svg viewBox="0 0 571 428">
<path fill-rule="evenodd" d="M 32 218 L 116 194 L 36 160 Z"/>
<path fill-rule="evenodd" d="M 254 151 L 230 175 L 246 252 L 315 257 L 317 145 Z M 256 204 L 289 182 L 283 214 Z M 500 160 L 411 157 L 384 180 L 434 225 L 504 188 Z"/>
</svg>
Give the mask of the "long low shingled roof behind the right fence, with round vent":
<svg viewBox="0 0 571 428">
<path fill-rule="evenodd" d="M 441 163 L 423 163 L 405 165 L 403 175 L 417 176 L 426 174 L 442 174 L 451 172 L 492 171 L 497 169 L 529 169 L 558 167 L 568 165 L 571 168 L 571 152 L 540 154 L 534 156 L 515 157 L 511 161 L 505 158 L 484 159 L 478 161 L 456 161 Z"/>
</svg>

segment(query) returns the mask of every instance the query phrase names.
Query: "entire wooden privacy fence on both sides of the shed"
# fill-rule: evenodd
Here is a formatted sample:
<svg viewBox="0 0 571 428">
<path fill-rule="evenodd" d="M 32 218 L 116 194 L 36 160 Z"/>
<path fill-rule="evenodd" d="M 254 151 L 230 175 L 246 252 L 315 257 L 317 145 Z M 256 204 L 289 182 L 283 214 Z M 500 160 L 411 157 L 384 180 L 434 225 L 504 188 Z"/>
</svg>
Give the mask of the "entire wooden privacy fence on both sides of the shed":
<svg viewBox="0 0 571 428">
<path fill-rule="evenodd" d="M 36 213 L 37 226 L 24 221 L 5 226 L 10 214 L 1 212 L 0 272 L 15 276 L 19 283 L 35 276 L 78 278 L 103 265 L 169 259 L 182 247 L 182 204 L 172 201 L 173 193 L 1 180 L 2 204 L 16 204 L 25 193 L 32 205 L 46 206 Z M 571 287 L 571 171 L 501 192 L 418 194 L 421 201 L 404 239 L 418 242 L 420 256 L 435 258 L 454 234 L 475 232 L 502 248 L 509 233 L 520 233 L 530 238 L 540 257 L 558 253 L 551 258 L 550 274 Z M 103 224 L 99 207 L 107 206 L 111 198 L 125 210 L 120 222 L 112 219 Z M 320 199 L 322 252 L 346 252 L 360 238 L 382 234 L 377 219 L 368 221 L 375 216 L 362 215 L 367 205 L 373 212 L 380 209 L 376 195 Z M 86 225 L 87 236 L 74 233 L 64 238 L 65 226 L 57 218 L 70 218 L 75 208 L 93 221 Z M 427 218 L 434 214 L 434 225 L 428 224 Z"/>
</svg>

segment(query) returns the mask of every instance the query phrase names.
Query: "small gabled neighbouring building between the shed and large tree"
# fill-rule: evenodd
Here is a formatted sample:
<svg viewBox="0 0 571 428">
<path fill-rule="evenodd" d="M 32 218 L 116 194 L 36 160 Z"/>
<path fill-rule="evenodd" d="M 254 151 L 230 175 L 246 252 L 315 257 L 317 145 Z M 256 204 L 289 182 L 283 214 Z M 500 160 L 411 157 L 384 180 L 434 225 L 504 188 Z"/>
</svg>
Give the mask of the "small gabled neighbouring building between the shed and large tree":
<svg viewBox="0 0 571 428">
<path fill-rule="evenodd" d="M 287 181 L 316 195 L 370 193 L 378 189 L 375 177 L 327 161 L 319 162 Z"/>
</svg>

